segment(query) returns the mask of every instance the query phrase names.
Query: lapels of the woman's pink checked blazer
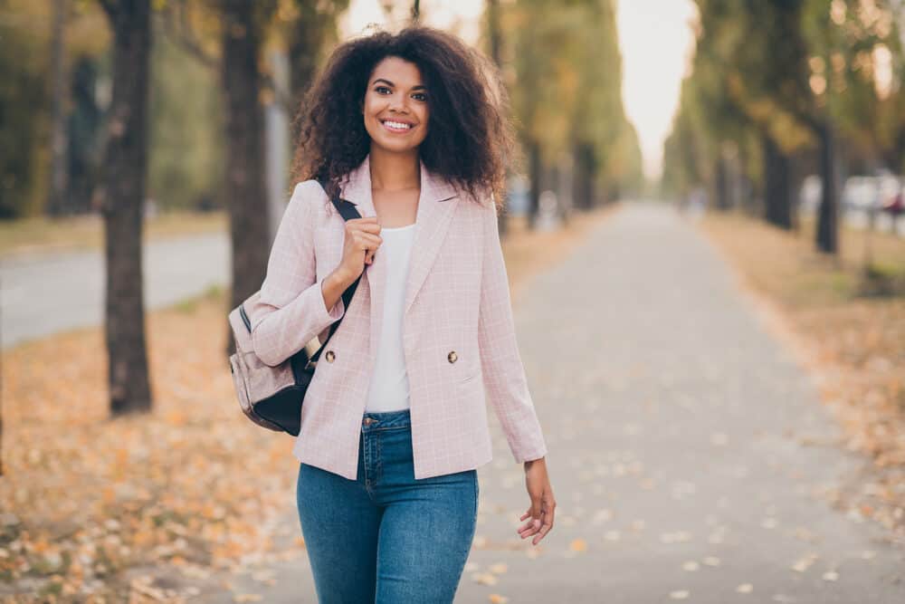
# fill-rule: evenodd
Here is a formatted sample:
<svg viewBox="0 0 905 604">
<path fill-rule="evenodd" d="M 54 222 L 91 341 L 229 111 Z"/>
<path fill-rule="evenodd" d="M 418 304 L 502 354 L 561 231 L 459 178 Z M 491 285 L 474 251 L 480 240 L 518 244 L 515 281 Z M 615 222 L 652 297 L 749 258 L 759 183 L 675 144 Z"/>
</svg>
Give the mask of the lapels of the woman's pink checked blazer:
<svg viewBox="0 0 905 604">
<path fill-rule="evenodd" d="M 355 204 L 358 214 L 361 216 L 377 216 L 374 199 L 371 196 L 370 156 L 367 156 L 358 168 L 349 173 L 348 180 L 342 187 L 342 197 Z M 415 215 L 412 256 L 405 280 L 404 317 L 443 246 L 443 239 L 449 229 L 458 201 L 459 197 L 455 188 L 442 177 L 429 172 L 427 168 L 424 168 L 424 162 L 422 162 L 421 194 L 418 197 L 418 209 Z M 376 357 L 377 343 L 380 341 L 380 330 L 383 326 L 386 270 L 386 254 L 381 254 L 378 249 L 374 255 L 374 262 L 365 267 L 365 274 L 361 283 L 358 283 L 359 289 L 362 283 L 367 283 L 370 299 L 372 358 Z"/>
</svg>

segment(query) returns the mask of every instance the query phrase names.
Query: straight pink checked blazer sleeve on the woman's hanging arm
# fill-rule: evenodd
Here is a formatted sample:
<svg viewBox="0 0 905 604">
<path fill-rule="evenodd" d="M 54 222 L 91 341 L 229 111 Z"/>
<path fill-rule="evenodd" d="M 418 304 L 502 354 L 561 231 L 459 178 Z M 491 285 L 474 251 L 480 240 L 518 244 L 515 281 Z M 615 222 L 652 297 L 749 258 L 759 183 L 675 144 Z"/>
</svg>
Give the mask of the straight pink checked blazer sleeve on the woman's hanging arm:
<svg viewBox="0 0 905 604">
<path fill-rule="evenodd" d="M 517 463 L 547 455 L 519 354 L 497 209 L 484 208 L 478 344 L 486 393 Z"/>
</svg>

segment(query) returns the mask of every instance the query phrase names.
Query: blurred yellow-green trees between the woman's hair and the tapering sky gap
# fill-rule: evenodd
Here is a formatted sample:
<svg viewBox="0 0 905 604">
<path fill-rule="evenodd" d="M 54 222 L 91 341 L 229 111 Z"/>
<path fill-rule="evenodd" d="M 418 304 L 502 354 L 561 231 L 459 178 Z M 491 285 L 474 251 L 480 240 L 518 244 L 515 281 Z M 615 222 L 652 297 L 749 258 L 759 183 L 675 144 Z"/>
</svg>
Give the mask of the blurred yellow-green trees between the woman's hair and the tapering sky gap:
<svg viewBox="0 0 905 604">
<path fill-rule="evenodd" d="M 496 5 L 489 3 L 491 17 Z M 544 189 L 577 208 L 639 190 L 641 148 L 622 101 L 614 0 L 519 0 L 500 21 L 503 41 L 491 48 L 499 49 L 519 124 L 529 216 Z"/>
</svg>

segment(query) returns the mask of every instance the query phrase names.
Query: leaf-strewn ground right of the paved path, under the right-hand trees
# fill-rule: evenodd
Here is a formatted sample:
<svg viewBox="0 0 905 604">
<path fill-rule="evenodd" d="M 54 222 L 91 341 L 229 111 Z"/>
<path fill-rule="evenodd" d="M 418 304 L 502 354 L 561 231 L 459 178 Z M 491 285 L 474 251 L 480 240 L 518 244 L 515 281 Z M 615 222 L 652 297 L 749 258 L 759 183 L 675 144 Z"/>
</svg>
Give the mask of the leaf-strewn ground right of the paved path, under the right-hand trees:
<svg viewBox="0 0 905 604">
<path fill-rule="evenodd" d="M 700 226 L 813 376 L 844 427 L 842 445 L 872 458 L 838 504 L 905 536 L 905 240 L 845 229 L 834 258 L 814 252 L 810 223 L 787 233 L 710 215 Z"/>
</svg>

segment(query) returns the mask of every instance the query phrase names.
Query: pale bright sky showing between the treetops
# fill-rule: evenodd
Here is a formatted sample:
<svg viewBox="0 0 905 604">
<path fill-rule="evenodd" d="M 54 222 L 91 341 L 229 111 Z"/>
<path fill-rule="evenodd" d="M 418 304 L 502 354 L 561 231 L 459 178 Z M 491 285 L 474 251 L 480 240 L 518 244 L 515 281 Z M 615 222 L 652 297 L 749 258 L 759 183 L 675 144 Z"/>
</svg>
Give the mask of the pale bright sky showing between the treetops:
<svg viewBox="0 0 905 604">
<path fill-rule="evenodd" d="M 505 1 L 505 0 L 504 0 Z M 411 3 L 396 2 L 396 24 L 403 24 Z M 475 43 L 480 34 L 482 0 L 422 0 L 424 22 L 443 27 Z M 681 79 L 691 61 L 696 9 L 691 0 L 617 0 L 616 24 L 623 55 L 625 112 L 638 130 L 644 174 L 662 173 L 663 140 L 672 128 Z M 344 37 L 368 24 L 386 24 L 378 0 L 351 0 L 340 24 Z"/>
</svg>

